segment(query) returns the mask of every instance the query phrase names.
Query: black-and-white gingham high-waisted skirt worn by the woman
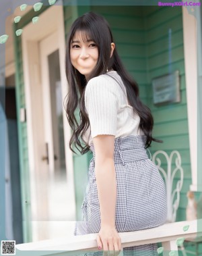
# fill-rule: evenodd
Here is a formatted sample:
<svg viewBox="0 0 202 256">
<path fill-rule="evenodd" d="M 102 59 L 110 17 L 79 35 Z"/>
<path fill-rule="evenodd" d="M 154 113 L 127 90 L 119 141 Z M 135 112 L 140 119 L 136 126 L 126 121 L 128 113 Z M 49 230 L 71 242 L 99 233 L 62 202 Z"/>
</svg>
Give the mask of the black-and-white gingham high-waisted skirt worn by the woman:
<svg viewBox="0 0 202 256">
<path fill-rule="evenodd" d="M 146 136 L 115 138 L 114 166 L 116 171 L 116 230 L 129 232 L 154 228 L 166 222 L 167 203 L 164 180 L 156 165 L 147 156 Z M 88 172 L 88 186 L 83 201 L 83 221 L 77 222 L 75 235 L 98 233 L 100 206 L 93 158 Z M 140 245 L 123 249 L 125 256 L 158 255 L 157 245 Z M 102 252 L 86 255 L 102 255 Z"/>
</svg>

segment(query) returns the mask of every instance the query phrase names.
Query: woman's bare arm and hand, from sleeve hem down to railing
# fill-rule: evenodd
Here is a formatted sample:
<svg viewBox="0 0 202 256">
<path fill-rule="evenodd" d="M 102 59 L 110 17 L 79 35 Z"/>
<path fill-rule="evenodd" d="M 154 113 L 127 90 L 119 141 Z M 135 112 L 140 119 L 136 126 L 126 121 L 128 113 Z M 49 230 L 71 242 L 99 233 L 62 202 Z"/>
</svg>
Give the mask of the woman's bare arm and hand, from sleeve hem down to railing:
<svg viewBox="0 0 202 256">
<path fill-rule="evenodd" d="M 115 228 L 114 136 L 98 135 L 93 138 L 93 142 L 96 153 L 95 172 L 101 216 L 101 228 L 97 239 L 98 247 L 112 253 L 121 250 L 121 238 Z"/>
</svg>

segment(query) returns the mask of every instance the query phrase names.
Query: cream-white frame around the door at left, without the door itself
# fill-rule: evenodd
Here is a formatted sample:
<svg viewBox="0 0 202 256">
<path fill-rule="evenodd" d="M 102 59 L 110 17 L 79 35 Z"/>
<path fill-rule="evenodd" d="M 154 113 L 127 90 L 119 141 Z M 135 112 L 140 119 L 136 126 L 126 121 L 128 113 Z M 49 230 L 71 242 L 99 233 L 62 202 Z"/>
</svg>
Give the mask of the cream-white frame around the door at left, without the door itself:
<svg viewBox="0 0 202 256">
<path fill-rule="evenodd" d="M 42 122 L 42 95 L 41 95 L 41 77 L 40 77 L 40 59 L 38 42 L 49 34 L 57 30 L 60 42 L 59 59 L 61 66 L 61 86 L 62 95 L 67 95 L 67 80 L 65 76 L 65 28 L 63 18 L 63 3 L 61 5 L 53 5 L 46 9 L 36 24 L 28 24 L 22 33 L 22 57 L 24 69 L 24 83 L 26 93 L 26 113 L 27 113 L 27 132 L 28 132 L 28 157 L 30 167 L 30 193 L 31 193 L 31 209 L 32 209 L 32 240 L 40 240 L 40 232 L 37 232 L 39 220 L 37 219 L 40 207 L 37 207 L 36 195 L 36 179 L 38 172 L 47 172 L 47 166 L 41 161 L 42 155 L 45 154 L 44 134 Z M 58 4 L 59 4 L 58 2 Z M 34 109 L 34 104 L 38 104 L 38 109 Z M 67 122 L 65 110 L 63 111 L 64 138 L 65 138 L 65 161 L 68 177 L 68 193 L 71 195 L 71 209 L 75 216 L 75 188 L 73 179 L 73 153 L 69 149 L 69 139 L 71 136 L 71 128 Z M 41 143 L 41 145 L 40 145 Z M 41 238 L 43 235 L 41 236 Z"/>
</svg>

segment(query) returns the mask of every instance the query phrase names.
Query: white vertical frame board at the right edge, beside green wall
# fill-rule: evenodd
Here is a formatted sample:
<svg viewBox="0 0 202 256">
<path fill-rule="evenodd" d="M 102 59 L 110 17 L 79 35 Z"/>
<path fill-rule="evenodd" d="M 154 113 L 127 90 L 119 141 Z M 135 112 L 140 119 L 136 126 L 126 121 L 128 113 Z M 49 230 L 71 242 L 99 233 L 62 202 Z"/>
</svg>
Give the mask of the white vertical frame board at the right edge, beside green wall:
<svg viewBox="0 0 202 256">
<path fill-rule="evenodd" d="M 200 7 L 194 8 L 194 14 L 189 14 L 187 7 L 182 7 L 182 20 L 183 20 L 183 37 L 184 37 L 184 67 L 185 67 L 185 80 L 187 88 L 187 113 L 189 125 L 189 145 L 191 156 L 191 176 L 192 184 L 190 190 L 202 191 L 201 182 L 197 179 L 197 172 L 199 172 L 199 161 L 201 157 L 197 146 L 199 145 L 199 137 L 197 137 L 197 94 L 199 88 L 199 76 L 201 76 L 201 22 L 200 22 Z M 200 103 L 201 104 L 201 103 Z M 199 160 L 199 161 L 198 161 Z"/>
</svg>

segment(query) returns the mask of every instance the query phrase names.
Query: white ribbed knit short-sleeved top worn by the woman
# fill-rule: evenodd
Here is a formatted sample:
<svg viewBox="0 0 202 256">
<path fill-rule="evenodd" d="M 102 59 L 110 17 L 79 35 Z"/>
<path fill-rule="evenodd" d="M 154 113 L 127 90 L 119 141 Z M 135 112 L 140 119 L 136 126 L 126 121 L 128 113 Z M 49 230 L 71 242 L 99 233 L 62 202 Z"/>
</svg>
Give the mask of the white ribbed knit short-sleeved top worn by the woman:
<svg viewBox="0 0 202 256">
<path fill-rule="evenodd" d="M 86 85 L 85 105 L 90 120 L 90 129 L 83 140 L 88 145 L 99 134 L 117 137 L 141 135 L 139 116 L 128 104 L 126 89 L 116 71 L 92 78 Z M 88 136 L 90 140 L 88 141 Z"/>
</svg>

